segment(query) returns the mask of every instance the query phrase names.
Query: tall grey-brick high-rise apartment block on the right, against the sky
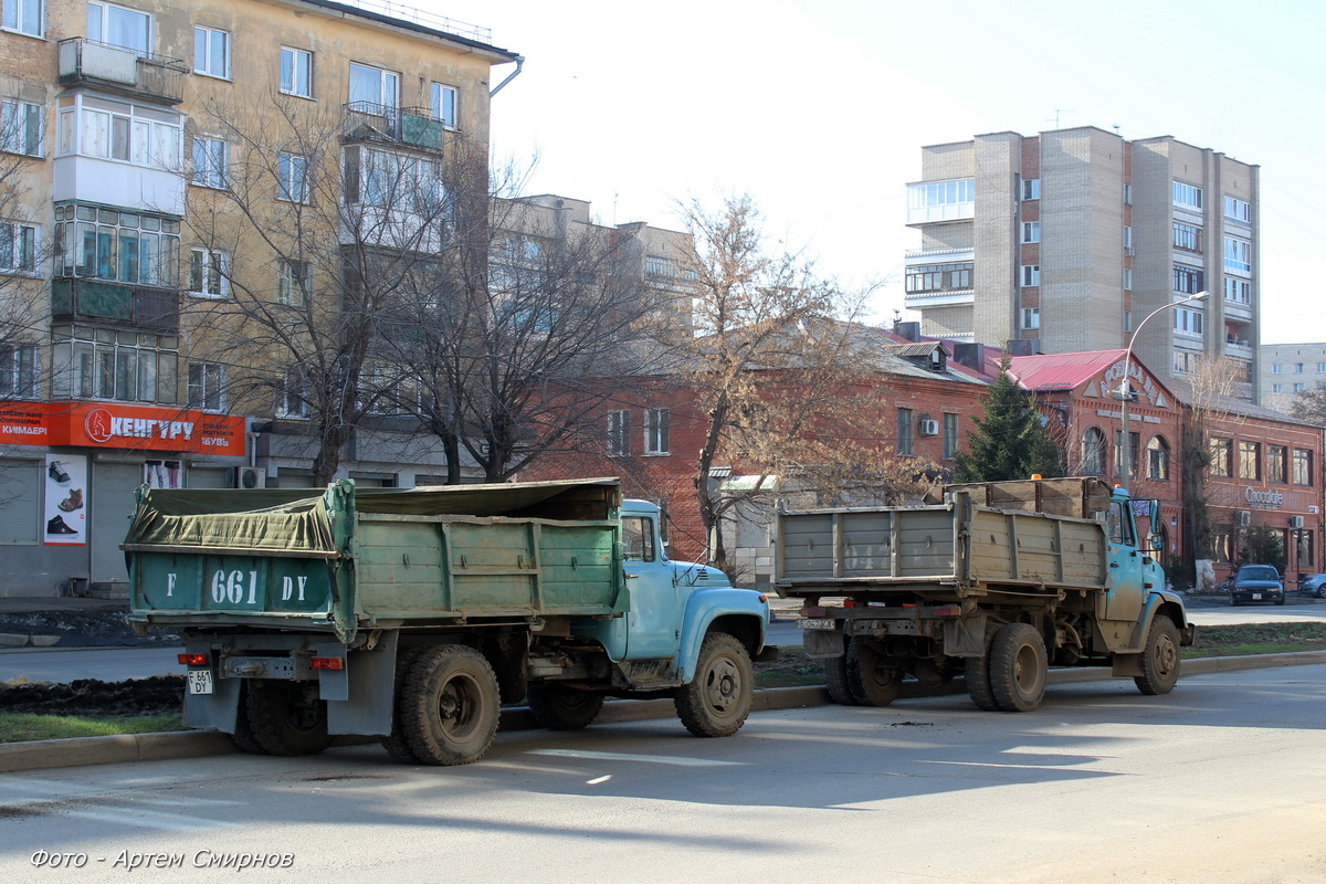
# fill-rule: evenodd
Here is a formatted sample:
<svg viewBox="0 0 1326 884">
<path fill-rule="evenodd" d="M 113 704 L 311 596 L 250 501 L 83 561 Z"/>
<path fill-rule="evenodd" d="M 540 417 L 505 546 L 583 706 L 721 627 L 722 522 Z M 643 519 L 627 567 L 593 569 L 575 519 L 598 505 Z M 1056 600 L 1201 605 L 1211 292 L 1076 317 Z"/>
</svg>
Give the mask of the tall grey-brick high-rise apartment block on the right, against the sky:
<svg viewBox="0 0 1326 884">
<path fill-rule="evenodd" d="M 1257 176 L 1168 135 L 1095 127 L 923 147 L 906 305 L 926 335 L 1077 353 L 1126 347 L 1151 311 L 1209 290 L 1147 323 L 1135 351 L 1175 375 L 1229 357 L 1252 384 Z"/>
</svg>

